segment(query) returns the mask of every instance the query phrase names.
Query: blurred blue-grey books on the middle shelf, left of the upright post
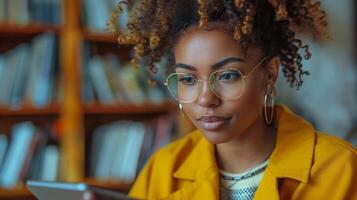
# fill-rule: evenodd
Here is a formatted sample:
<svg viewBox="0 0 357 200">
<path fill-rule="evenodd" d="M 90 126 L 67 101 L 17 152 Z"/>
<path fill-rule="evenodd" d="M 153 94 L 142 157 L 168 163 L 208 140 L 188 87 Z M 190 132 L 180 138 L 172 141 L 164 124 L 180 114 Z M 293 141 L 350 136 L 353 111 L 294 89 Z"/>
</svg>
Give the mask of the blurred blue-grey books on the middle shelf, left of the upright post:
<svg viewBox="0 0 357 200">
<path fill-rule="evenodd" d="M 0 106 L 49 105 L 56 98 L 57 49 L 56 37 L 48 33 L 1 54 Z"/>
</svg>

